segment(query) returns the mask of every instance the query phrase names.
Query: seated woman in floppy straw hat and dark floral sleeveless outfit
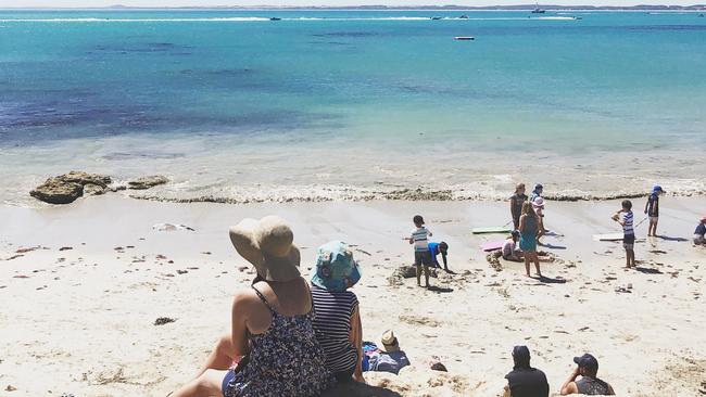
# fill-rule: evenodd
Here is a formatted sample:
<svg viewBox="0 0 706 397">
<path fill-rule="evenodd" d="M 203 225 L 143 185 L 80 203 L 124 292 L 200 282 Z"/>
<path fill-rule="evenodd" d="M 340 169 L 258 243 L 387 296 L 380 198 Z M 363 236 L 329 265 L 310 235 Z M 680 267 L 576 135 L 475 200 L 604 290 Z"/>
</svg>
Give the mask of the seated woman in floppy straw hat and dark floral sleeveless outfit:
<svg viewBox="0 0 706 397">
<path fill-rule="evenodd" d="M 308 283 L 298 269 L 291 229 L 279 217 L 244 219 L 230 228 L 230 241 L 257 278 L 236 293 L 230 334 L 199 376 L 172 397 L 320 395 L 333 379 L 314 334 Z"/>
</svg>

